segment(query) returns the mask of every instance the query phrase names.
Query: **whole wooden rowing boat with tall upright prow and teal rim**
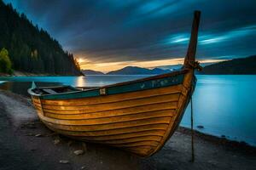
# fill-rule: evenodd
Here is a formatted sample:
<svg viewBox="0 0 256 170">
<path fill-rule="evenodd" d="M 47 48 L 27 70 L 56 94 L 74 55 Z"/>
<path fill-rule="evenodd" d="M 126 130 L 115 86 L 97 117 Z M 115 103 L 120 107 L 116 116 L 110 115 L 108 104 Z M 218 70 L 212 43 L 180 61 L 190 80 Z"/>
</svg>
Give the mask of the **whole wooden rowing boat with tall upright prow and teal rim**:
<svg viewBox="0 0 256 170">
<path fill-rule="evenodd" d="M 99 88 L 28 89 L 44 124 L 73 139 L 151 156 L 172 136 L 195 88 L 200 12 L 195 12 L 183 68 Z"/>
</svg>

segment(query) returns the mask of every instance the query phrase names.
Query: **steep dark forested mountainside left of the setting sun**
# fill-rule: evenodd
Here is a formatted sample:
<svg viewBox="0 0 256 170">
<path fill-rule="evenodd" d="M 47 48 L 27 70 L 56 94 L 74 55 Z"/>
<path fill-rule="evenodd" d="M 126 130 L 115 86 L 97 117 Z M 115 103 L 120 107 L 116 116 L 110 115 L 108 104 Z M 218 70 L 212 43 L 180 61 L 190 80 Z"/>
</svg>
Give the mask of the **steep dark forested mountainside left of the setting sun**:
<svg viewBox="0 0 256 170">
<path fill-rule="evenodd" d="M 36 74 L 80 75 L 73 54 L 47 31 L 34 26 L 25 14 L 0 0 L 0 50 L 8 51 L 12 69 Z M 1 70 L 1 69 L 0 69 Z"/>
</svg>

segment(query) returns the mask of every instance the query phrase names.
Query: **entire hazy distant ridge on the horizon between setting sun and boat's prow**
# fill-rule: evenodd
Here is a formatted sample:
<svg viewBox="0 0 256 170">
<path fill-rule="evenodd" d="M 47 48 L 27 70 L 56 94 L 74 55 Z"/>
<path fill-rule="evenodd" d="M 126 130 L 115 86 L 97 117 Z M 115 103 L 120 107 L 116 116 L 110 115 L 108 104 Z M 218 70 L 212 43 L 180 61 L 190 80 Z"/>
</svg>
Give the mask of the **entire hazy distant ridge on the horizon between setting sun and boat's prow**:
<svg viewBox="0 0 256 170">
<path fill-rule="evenodd" d="M 107 74 L 101 71 L 84 70 L 84 75 L 159 75 L 170 72 L 171 70 L 164 70 L 160 68 L 147 69 L 137 66 L 126 66 L 117 71 L 109 71 Z"/>
</svg>

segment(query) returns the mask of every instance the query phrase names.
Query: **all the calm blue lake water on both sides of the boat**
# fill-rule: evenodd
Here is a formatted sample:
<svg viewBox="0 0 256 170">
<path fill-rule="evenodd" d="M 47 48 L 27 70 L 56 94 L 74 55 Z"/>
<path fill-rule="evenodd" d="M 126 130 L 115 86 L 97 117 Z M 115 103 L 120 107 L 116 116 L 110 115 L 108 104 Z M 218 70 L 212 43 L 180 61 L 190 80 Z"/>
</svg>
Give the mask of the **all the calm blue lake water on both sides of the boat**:
<svg viewBox="0 0 256 170">
<path fill-rule="evenodd" d="M 0 77 L 0 88 L 26 94 L 31 82 L 40 86 L 68 84 L 94 87 L 147 76 Z M 195 128 L 202 133 L 256 145 L 256 76 L 197 76 L 193 96 Z M 190 105 L 183 120 L 190 127 Z M 203 126 L 198 128 L 196 126 Z"/>
</svg>

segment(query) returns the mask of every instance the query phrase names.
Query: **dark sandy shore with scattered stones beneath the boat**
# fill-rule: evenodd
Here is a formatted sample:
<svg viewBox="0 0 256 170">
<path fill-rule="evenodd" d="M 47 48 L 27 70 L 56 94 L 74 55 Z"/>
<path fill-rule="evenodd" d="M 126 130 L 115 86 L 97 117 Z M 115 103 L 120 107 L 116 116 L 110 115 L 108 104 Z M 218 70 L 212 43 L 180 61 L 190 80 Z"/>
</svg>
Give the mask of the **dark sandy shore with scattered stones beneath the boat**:
<svg viewBox="0 0 256 170">
<path fill-rule="evenodd" d="M 195 162 L 190 162 L 190 133 L 183 127 L 149 158 L 67 139 L 44 127 L 27 99 L 5 91 L 0 91 L 0 135 L 1 170 L 256 169 L 255 148 L 202 133 L 195 133 Z M 82 155 L 74 154 L 77 150 Z"/>
</svg>

